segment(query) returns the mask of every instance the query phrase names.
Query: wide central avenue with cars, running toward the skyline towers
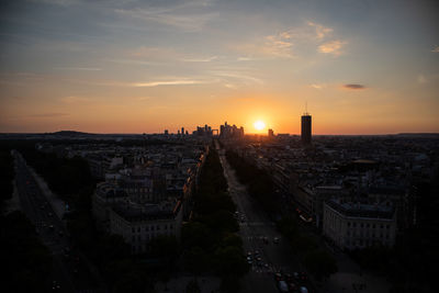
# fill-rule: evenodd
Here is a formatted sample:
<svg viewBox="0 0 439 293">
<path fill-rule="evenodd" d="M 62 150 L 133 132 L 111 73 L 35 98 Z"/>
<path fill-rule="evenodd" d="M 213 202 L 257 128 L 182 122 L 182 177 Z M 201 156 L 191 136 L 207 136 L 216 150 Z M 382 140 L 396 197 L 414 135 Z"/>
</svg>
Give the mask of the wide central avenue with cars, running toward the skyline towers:
<svg viewBox="0 0 439 293">
<path fill-rule="evenodd" d="M 291 247 L 284 241 L 275 228 L 275 224 L 268 218 L 263 210 L 247 193 L 246 187 L 239 183 L 235 171 L 228 165 L 224 150 L 218 150 L 219 160 L 224 169 L 224 174 L 228 182 L 228 191 L 237 204 L 238 221 L 240 225 L 239 235 L 244 243 L 246 252 L 258 251 L 261 260 L 256 261 L 251 257 L 252 264 L 250 272 L 243 279 L 244 293 L 279 292 L 274 281 L 274 272 L 294 272 L 299 271 L 299 264 L 292 268 L 292 263 L 297 263 Z M 263 238 L 267 237 L 267 240 Z M 279 243 L 274 243 L 274 238 Z"/>
</svg>

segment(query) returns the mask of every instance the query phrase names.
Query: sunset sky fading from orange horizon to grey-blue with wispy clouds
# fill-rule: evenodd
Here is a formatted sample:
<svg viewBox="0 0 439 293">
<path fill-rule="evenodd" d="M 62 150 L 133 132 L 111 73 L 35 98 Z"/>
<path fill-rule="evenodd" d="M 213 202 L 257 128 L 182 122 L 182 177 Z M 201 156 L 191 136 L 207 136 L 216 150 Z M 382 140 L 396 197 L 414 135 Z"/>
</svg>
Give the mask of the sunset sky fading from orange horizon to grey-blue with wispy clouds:
<svg viewBox="0 0 439 293">
<path fill-rule="evenodd" d="M 439 132 L 439 1 L 0 3 L 0 132 Z M 267 133 L 267 128 L 260 131 Z"/>
</svg>

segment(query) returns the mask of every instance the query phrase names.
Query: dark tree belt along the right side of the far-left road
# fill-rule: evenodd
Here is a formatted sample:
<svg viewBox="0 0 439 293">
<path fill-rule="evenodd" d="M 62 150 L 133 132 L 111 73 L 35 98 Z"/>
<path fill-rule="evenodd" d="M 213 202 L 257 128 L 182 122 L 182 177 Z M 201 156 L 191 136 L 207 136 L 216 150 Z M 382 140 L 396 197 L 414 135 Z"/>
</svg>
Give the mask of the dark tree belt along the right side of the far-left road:
<svg viewBox="0 0 439 293">
<path fill-rule="evenodd" d="M 103 285 L 110 292 L 151 291 L 153 269 L 133 259 L 131 248 L 122 237 L 100 232 L 94 225 L 91 196 L 95 180 L 88 162 L 80 157 L 61 158 L 41 153 L 35 149 L 34 143 L 20 142 L 14 148 L 44 178 L 52 191 L 69 202 L 71 212 L 66 215 L 66 222 L 74 251 L 83 252 L 98 268 Z M 85 266 L 83 269 L 89 268 Z M 94 286 L 98 280 L 90 278 L 89 282 L 89 286 Z"/>
</svg>

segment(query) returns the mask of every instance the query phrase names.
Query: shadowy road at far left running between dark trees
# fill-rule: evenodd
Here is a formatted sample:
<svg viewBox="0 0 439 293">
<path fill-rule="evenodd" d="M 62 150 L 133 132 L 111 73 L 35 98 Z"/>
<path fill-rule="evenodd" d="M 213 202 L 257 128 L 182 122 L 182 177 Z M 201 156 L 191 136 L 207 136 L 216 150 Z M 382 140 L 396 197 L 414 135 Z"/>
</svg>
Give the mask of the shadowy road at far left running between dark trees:
<svg viewBox="0 0 439 293">
<path fill-rule="evenodd" d="M 18 153 L 15 158 L 15 182 L 22 211 L 35 225 L 36 234 L 53 256 L 52 288 L 54 292 L 80 292 L 75 289 L 75 280 L 81 273 L 79 257 L 71 251 L 68 233 L 52 205 L 47 202 L 25 160 Z"/>
</svg>

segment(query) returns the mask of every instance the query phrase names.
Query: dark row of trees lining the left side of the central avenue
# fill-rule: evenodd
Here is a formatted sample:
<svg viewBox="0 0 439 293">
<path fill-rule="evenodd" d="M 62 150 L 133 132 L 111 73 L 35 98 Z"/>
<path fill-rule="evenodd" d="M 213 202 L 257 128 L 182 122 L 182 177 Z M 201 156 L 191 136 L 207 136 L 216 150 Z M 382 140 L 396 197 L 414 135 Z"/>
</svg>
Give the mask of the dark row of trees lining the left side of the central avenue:
<svg viewBox="0 0 439 293">
<path fill-rule="evenodd" d="M 182 228 L 184 267 L 195 275 L 215 273 L 222 278 L 224 290 L 236 291 L 239 277 L 249 266 L 237 235 L 236 205 L 214 149 L 204 162 L 194 202 L 193 217 Z"/>
</svg>

